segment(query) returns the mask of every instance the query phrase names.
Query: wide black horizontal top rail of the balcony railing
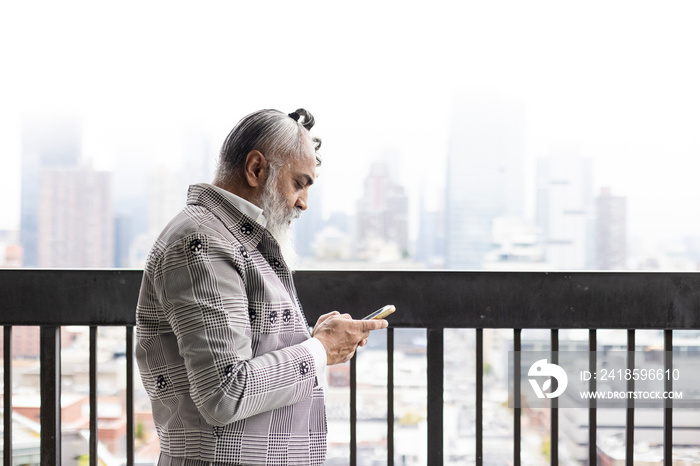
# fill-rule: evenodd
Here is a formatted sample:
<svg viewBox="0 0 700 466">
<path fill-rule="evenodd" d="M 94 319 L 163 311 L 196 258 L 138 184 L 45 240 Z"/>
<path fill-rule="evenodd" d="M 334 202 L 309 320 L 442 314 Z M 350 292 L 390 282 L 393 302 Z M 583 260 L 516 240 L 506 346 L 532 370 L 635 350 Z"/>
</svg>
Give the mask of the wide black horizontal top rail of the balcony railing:
<svg viewBox="0 0 700 466">
<path fill-rule="evenodd" d="M 141 277 L 0 269 L 0 324 L 133 326 Z M 391 303 L 394 327 L 700 329 L 693 272 L 298 271 L 295 282 L 309 322 Z"/>
</svg>

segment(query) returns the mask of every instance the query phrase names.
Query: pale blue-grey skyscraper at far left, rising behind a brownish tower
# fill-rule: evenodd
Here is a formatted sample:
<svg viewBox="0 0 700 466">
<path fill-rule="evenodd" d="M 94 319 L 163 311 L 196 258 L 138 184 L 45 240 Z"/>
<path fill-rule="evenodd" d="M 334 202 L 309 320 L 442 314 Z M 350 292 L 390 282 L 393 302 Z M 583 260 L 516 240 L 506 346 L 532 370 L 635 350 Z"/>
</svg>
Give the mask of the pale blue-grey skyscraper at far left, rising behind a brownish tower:
<svg viewBox="0 0 700 466">
<path fill-rule="evenodd" d="M 39 179 L 43 168 L 76 166 L 82 130 L 74 115 L 36 114 L 22 121 L 22 211 L 20 241 L 23 265 L 39 265 Z"/>
</svg>

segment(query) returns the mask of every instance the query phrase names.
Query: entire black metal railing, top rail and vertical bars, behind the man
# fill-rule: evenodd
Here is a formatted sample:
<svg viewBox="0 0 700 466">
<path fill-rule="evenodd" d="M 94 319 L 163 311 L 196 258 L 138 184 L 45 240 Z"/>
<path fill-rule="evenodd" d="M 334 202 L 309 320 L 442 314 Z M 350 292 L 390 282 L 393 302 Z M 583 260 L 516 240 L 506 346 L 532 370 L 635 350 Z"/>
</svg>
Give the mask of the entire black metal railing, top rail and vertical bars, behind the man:
<svg viewBox="0 0 700 466">
<path fill-rule="evenodd" d="M 97 464 L 97 329 L 124 327 L 126 340 L 126 464 L 134 458 L 134 309 L 141 281 L 136 270 L 0 270 L 2 296 L 0 323 L 4 325 L 4 367 L 11 367 L 13 328 L 40 326 L 41 440 L 40 464 L 61 463 L 61 327 L 90 329 L 89 355 L 89 463 Z M 633 352 L 641 330 L 663 332 L 663 349 L 673 351 L 674 330 L 700 329 L 700 275 L 693 273 L 535 273 L 535 272 L 297 272 L 296 285 L 310 322 L 330 309 L 364 313 L 385 303 L 399 309 L 387 331 L 386 464 L 395 464 L 394 329 L 426 329 L 427 360 L 427 464 L 441 465 L 444 458 L 445 332 L 473 329 L 475 379 L 474 462 L 484 464 L 484 330 L 508 329 L 512 350 L 521 351 L 523 329 L 546 329 L 550 350 L 559 350 L 559 331 L 582 329 L 587 334 L 592 367 L 601 329 L 626 332 L 624 346 Z M 665 353 L 668 354 L 668 353 Z M 361 358 L 361 355 L 359 356 Z M 357 358 L 350 364 L 350 464 L 358 464 Z M 665 364 L 672 364 L 667 360 Z M 516 380 L 521 377 L 516 369 Z M 595 386 L 595 381 L 591 382 Z M 12 371 L 4 371 L 4 392 L 12 392 Z M 516 384 L 515 396 L 519 397 Z M 559 464 L 561 411 L 556 401 L 549 410 L 550 464 Z M 12 396 L 3 397 L 3 412 L 13 411 Z M 587 409 L 588 464 L 602 460 L 596 445 L 600 409 Z M 624 412 L 624 462 L 633 464 L 635 414 Z M 528 464 L 522 455 L 523 409 L 511 411 L 513 435 L 509 464 Z M 663 416 L 663 464 L 673 463 L 674 410 Z M 12 416 L 3 416 L 4 445 L 13 446 Z M 700 432 L 700 423 L 684 425 Z M 696 438 L 700 435 L 696 435 Z M 4 465 L 14 464 L 13 448 L 4 448 Z M 471 463 L 471 460 L 467 464 Z M 622 463 L 614 463 L 622 464 Z M 695 463 L 683 463 L 695 464 Z"/>
</svg>

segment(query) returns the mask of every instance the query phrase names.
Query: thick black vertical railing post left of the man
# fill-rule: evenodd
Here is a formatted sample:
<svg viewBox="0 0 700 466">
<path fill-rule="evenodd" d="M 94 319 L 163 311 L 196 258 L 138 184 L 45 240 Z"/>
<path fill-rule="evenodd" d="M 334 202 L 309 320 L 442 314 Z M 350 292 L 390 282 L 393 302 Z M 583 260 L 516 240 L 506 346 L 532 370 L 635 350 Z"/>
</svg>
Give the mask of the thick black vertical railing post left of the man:
<svg viewBox="0 0 700 466">
<path fill-rule="evenodd" d="M 61 327 L 41 327 L 41 464 L 61 464 Z"/>
</svg>

